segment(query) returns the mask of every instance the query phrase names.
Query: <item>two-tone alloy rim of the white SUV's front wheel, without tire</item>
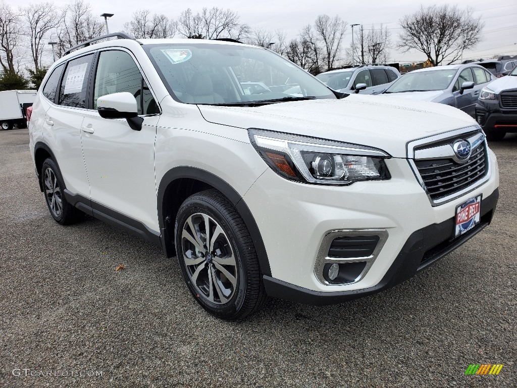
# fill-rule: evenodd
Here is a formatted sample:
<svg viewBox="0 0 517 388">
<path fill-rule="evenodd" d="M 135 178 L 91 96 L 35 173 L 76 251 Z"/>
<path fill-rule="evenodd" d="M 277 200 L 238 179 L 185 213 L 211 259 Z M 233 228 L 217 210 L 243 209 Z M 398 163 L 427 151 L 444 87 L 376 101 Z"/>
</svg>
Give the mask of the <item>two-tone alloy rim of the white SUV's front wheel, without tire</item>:
<svg viewBox="0 0 517 388">
<path fill-rule="evenodd" d="M 219 223 L 204 213 L 190 215 L 181 231 L 181 251 L 197 296 L 219 305 L 229 302 L 237 290 L 237 263 Z"/>
</svg>

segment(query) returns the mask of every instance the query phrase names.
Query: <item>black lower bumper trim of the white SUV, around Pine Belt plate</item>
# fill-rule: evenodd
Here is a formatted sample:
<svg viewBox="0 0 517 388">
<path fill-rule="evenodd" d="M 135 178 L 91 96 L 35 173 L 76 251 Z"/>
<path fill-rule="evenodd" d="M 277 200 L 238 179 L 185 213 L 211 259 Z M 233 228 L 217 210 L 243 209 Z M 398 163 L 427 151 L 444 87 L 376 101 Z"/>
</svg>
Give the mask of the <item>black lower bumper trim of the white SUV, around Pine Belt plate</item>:
<svg viewBox="0 0 517 388">
<path fill-rule="evenodd" d="M 454 217 L 413 232 L 382 280 L 373 287 L 341 292 L 322 292 L 297 287 L 285 281 L 264 276 L 266 292 L 269 296 L 297 303 L 329 305 L 389 289 L 413 277 L 417 272 L 427 268 L 481 232 L 492 221 L 498 199 L 499 189 L 496 189 L 492 195 L 481 202 L 479 225 L 459 238 L 451 238 L 454 230 Z"/>
</svg>

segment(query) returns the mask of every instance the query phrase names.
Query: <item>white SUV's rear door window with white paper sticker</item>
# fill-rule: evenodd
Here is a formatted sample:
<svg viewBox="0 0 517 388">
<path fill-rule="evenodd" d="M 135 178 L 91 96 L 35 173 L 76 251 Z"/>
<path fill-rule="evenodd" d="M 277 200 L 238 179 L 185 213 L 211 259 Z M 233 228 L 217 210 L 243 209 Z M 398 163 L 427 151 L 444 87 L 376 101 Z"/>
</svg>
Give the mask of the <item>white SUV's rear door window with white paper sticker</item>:
<svg viewBox="0 0 517 388">
<path fill-rule="evenodd" d="M 72 59 L 61 81 L 59 105 L 74 108 L 86 108 L 86 91 L 94 54 Z"/>
</svg>

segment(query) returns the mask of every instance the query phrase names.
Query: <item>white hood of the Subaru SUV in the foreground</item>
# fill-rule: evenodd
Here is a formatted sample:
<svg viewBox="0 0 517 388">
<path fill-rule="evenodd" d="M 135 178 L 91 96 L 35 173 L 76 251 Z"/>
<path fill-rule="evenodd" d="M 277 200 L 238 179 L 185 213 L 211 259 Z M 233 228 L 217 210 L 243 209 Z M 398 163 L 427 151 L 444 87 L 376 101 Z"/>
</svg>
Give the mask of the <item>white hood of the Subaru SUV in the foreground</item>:
<svg viewBox="0 0 517 388">
<path fill-rule="evenodd" d="M 357 94 L 340 100 L 199 109 L 210 123 L 367 145 L 401 158 L 406 157 L 408 141 L 477 126 L 468 114 L 446 105 Z"/>
</svg>

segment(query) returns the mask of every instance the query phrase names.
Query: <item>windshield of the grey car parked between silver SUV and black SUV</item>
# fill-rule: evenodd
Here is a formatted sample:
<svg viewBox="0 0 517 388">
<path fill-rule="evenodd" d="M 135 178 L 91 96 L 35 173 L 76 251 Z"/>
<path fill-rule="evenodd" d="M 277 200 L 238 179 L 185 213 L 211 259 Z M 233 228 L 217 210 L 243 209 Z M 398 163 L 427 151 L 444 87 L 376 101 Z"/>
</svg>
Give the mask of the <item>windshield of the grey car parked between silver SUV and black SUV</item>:
<svg viewBox="0 0 517 388">
<path fill-rule="evenodd" d="M 444 90 L 449 87 L 457 71 L 429 70 L 407 73 L 388 87 L 385 93 Z"/>
</svg>

